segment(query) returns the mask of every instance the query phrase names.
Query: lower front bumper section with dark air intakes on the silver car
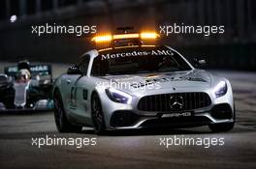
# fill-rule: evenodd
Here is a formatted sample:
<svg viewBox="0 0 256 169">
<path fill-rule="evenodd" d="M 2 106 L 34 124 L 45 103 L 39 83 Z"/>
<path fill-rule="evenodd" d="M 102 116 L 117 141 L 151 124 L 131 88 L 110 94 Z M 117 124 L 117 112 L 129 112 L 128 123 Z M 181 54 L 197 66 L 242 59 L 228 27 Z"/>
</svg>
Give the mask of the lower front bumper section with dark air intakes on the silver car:
<svg viewBox="0 0 256 169">
<path fill-rule="evenodd" d="M 112 128 L 140 127 L 195 127 L 218 123 L 232 123 L 232 107 L 227 103 L 216 104 L 210 110 L 197 112 L 170 112 L 138 115 L 133 111 L 118 110 L 112 113 Z"/>
</svg>

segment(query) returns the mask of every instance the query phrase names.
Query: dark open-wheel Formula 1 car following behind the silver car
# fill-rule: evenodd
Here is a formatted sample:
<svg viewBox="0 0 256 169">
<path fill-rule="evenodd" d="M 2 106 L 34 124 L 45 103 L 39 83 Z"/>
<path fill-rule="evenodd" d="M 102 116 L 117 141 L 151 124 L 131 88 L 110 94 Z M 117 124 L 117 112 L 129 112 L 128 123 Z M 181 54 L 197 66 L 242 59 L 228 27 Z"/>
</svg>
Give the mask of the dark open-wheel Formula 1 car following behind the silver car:
<svg viewBox="0 0 256 169">
<path fill-rule="evenodd" d="M 48 110 L 53 108 L 50 65 L 20 61 L 0 74 L 0 111 Z"/>
</svg>

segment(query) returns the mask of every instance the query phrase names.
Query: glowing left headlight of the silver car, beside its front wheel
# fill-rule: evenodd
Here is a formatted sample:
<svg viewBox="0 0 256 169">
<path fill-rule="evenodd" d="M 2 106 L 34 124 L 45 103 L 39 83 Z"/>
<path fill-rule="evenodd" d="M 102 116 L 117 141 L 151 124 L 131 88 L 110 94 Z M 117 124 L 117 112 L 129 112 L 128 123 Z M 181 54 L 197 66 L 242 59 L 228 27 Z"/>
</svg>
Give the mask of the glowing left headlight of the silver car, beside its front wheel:
<svg viewBox="0 0 256 169">
<path fill-rule="evenodd" d="M 106 89 L 106 94 L 112 101 L 119 103 L 130 104 L 133 99 L 131 95 L 113 88 Z"/>
</svg>

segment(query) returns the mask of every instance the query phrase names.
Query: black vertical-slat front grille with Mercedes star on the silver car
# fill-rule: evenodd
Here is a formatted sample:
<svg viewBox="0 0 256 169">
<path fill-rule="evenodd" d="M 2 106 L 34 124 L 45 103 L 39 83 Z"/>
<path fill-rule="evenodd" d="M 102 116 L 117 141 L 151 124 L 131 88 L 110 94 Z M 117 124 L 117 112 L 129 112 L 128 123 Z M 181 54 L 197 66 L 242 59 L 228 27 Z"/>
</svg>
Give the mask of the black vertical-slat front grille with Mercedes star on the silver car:
<svg viewBox="0 0 256 169">
<path fill-rule="evenodd" d="M 175 93 L 146 96 L 140 99 L 141 111 L 186 111 L 207 107 L 211 104 L 207 93 Z"/>
</svg>

